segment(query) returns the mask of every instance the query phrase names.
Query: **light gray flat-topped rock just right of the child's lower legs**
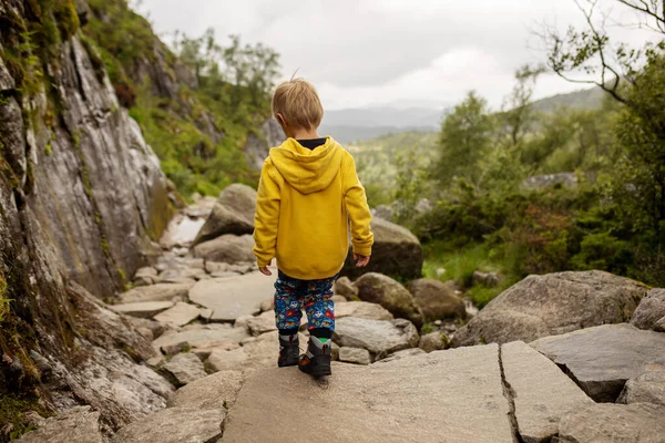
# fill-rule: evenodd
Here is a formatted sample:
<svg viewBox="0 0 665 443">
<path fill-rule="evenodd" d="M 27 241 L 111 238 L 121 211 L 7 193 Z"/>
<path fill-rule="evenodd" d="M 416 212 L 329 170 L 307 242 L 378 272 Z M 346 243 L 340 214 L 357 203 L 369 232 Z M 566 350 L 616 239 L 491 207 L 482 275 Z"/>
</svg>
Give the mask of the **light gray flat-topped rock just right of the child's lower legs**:
<svg viewBox="0 0 665 443">
<path fill-rule="evenodd" d="M 408 320 L 379 321 L 355 317 L 337 320 L 332 338 L 340 347 L 367 349 L 379 360 L 395 351 L 415 348 L 420 339 L 416 327 Z"/>
</svg>

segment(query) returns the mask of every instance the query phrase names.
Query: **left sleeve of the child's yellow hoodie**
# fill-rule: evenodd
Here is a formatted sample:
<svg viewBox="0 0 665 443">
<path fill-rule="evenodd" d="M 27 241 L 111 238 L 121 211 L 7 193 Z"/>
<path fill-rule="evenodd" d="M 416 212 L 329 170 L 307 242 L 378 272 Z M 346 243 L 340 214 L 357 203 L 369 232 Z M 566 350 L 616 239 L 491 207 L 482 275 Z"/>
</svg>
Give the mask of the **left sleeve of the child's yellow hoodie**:
<svg viewBox="0 0 665 443">
<path fill-rule="evenodd" d="M 279 186 L 270 177 L 269 161 L 264 163 L 256 197 L 254 216 L 254 255 L 259 267 L 268 266 L 275 257 L 277 227 L 279 226 Z"/>
</svg>

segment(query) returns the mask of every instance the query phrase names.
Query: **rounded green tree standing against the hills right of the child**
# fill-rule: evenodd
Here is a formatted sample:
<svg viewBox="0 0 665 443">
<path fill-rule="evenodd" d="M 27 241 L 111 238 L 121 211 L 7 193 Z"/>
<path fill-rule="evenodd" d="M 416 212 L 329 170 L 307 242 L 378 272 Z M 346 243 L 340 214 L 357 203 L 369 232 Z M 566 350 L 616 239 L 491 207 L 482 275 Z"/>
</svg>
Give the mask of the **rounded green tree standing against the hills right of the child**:
<svg viewBox="0 0 665 443">
<path fill-rule="evenodd" d="M 478 185 L 480 162 L 490 148 L 493 131 L 487 101 L 474 91 L 469 92 L 441 124 L 440 156 L 432 169 L 433 178 L 444 187 L 456 177 Z"/>
</svg>

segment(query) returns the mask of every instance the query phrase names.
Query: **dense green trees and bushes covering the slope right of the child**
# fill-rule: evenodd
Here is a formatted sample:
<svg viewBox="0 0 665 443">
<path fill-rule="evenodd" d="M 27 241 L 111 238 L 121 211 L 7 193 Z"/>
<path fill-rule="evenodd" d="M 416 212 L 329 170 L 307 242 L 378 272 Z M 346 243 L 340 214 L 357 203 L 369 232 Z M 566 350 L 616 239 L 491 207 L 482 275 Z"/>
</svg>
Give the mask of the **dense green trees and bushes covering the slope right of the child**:
<svg viewBox="0 0 665 443">
<path fill-rule="evenodd" d="M 613 47 L 571 35 L 552 49 L 550 68 L 607 72 L 596 55 Z M 481 306 L 530 274 L 602 269 L 665 285 L 664 50 L 622 53 L 626 80 L 605 74 L 576 95 L 582 103 L 534 103 L 542 71 L 526 66 L 503 112 L 470 92 L 434 143 L 405 134 L 356 146 L 370 203 L 395 202 L 395 219 L 424 244 L 426 274 L 458 280 Z M 601 106 L 590 106 L 601 89 Z M 417 209 L 422 197 L 433 209 Z M 474 270 L 503 281 L 473 286 Z"/>
</svg>

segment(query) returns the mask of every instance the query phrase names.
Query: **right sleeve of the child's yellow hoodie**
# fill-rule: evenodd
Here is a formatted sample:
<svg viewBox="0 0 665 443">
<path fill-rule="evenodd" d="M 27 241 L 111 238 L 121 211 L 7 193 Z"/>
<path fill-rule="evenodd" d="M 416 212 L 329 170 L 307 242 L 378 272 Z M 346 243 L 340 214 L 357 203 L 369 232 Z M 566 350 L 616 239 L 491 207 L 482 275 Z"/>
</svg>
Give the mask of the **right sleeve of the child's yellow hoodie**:
<svg viewBox="0 0 665 443">
<path fill-rule="evenodd" d="M 374 245 L 374 234 L 370 230 L 371 214 L 367 205 L 365 188 L 358 179 L 356 162 L 346 153 L 342 162 L 344 171 L 344 200 L 351 219 L 351 244 L 354 253 L 369 257 Z"/>
</svg>

